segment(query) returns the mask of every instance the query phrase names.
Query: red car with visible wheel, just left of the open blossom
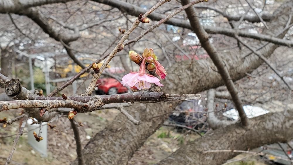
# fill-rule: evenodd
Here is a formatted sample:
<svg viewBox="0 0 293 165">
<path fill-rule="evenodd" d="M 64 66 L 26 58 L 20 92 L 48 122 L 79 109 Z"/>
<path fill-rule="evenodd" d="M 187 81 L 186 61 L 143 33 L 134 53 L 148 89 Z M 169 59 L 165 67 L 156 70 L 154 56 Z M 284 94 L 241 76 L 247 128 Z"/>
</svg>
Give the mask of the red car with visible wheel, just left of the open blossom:
<svg viewBox="0 0 293 165">
<path fill-rule="evenodd" d="M 100 86 L 96 87 L 96 94 L 117 94 L 117 93 L 127 93 L 128 89 L 123 86 L 120 81 L 113 79 L 113 78 L 102 78 L 98 79 L 96 84 L 99 84 Z M 132 91 L 137 91 L 137 88 L 134 86 L 131 88 Z"/>
</svg>

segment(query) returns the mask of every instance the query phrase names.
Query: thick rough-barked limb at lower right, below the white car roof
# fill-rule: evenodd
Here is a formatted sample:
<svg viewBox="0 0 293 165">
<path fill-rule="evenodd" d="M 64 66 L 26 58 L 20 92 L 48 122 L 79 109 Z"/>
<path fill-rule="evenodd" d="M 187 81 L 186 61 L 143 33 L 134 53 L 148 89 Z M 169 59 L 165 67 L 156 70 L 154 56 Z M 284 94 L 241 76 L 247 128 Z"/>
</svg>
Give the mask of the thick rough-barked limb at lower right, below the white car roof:
<svg viewBox="0 0 293 165">
<path fill-rule="evenodd" d="M 287 142 L 293 137 L 293 112 L 269 113 L 250 120 L 245 129 L 239 124 L 223 127 L 185 145 L 159 164 L 223 164 L 235 152 L 205 153 L 208 150 L 247 150 L 264 144 Z M 239 153 L 238 153 L 239 154 Z"/>
</svg>

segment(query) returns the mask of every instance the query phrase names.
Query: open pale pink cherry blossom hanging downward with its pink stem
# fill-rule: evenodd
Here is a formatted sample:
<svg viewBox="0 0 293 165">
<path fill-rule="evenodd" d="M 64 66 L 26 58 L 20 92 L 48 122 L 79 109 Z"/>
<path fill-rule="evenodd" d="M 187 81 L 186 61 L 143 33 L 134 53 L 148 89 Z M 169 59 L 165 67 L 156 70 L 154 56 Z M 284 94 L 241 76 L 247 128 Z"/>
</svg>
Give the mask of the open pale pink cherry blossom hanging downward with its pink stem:
<svg viewBox="0 0 293 165">
<path fill-rule="evenodd" d="M 151 83 L 155 83 L 157 86 L 163 86 L 159 81 L 160 79 L 145 73 L 145 60 L 143 59 L 140 65 L 139 72 L 130 72 L 122 77 L 121 84 L 123 86 L 135 86 L 137 89 L 148 89 L 151 87 Z"/>
</svg>

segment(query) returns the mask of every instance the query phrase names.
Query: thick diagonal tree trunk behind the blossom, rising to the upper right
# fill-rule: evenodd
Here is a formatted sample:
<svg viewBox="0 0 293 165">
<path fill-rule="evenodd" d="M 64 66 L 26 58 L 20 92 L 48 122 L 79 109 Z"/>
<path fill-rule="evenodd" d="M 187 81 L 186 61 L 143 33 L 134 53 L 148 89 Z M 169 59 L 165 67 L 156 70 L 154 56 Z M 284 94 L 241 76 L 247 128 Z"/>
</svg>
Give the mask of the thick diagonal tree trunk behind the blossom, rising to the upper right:
<svg viewBox="0 0 293 165">
<path fill-rule="evenodd" d="M 281 31 L 288 21 L 288 14 L 290 13 L 291 6 L 292 1 L 289 1 L 277 9 L 272 21 L 268 23 L 270 29 L 264 30 L 263 33 L 276 34 Z M 284 35 L 283 33 L 280 38 Z M 260 42 L 255 41 L 252 44 L 259 45 Z M 266 47 L 260 49 L 259 53 L 265 57 L 269 57 L 276 48 L 276 45 L 268 44 Z M 245 57 L 247 53 L 247 50 L 242 50 L 230 51 L 220 55 L 221 58 L 226 61 L 226 67 L 234 81 L 246 76 L 246 72 L 252 72 L 262 64 L 262 61 L 256 55 Z M 210 59 L 178 63 L 178 66 L 169 68 L 167 72 L 168 76 L 162 83 L 165 85 L 163 91 L 168 93 L 178 93 L 178 91 L 180 91 L 180 93 L 198 93 L 224 84 L 219 73 L 215 71 L 215 66 Z M 132 114 L 132 116 L 135 116 L 136 119 L 140 120 L 142 124 L 138 126 L 134 125 L 122 115 L 118 115 L 114 123 L 108 125 L 107 128 L 96 134 L 86 145 L 83 150 L 86 164 L 127 164 L 128 159 L 134 151 L 143 144 L 147 137 L 162 125 L 166 117 L 164 114 L 170 113 L 175 106 L 176 103 L 169 102 L 134 104 L 131 108 L 127 108 L 128 112 Z M 273 115 L 272 118 L 276 117 L 277 116 Z M 284 117 L 284 120 L 285 119 L 287 120 L 288 118 Z M 233 127 L 231 126 L 231 128 Z M 225 130 L 226 129 L 227 128 L 225 128 Z M 229 138 L 226 137 L 225 140 L 227 139 Z M 213 142 L 216 143 L 217 139 L 214 139 Z M 229 142 L 233 145 L 236 144 L 236 142 L 232 140 Z M 254 147 L 258 147 L 258 145 Z M 229 157 L 225 156 L 222 159 L 229 159 Z M 76 164 L 76 161 L 74 164 Z M 177 164 L 181 164 L 181 162 L 177 162 Z"/>
</svg>

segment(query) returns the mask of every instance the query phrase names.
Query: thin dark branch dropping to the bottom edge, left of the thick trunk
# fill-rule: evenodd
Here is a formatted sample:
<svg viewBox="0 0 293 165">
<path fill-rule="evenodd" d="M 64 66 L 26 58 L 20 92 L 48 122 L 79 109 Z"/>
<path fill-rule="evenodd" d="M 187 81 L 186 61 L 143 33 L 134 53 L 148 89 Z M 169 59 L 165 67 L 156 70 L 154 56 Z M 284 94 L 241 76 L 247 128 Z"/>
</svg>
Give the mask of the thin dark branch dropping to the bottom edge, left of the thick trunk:
<svg viewBox="0 0 293 165">
<path fill-rule="evenodd" d="M 74 122 L 74 118 L 69 120 L 71 123 L 71 127 L 74 133 L 74 139 L 76 142 L 76 153 L 77 153 L 77 159 L 78 159 L 78 164 L 79 165 L 85 165 L 84 157 L 82 155 L 82 144 L 79 136 L 79 129 L 77 125 Z"/>
</svg>

